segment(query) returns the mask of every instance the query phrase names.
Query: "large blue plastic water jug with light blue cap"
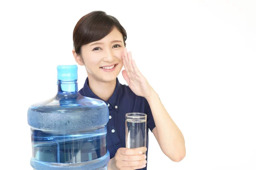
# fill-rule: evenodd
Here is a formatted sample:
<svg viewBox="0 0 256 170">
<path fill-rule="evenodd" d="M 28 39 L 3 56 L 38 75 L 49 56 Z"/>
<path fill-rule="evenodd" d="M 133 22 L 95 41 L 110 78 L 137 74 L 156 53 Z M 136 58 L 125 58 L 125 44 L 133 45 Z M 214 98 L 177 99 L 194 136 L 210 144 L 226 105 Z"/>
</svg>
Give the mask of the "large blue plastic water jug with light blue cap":
<svg viewBox="0 0 256 170">
<path fill-rule="evenodd" d="M 79 94 L 76 65 L 58 65 L 57 71 L 57 94 L 28 109 L 31 166 L 34 170 L 107 170 L 106 103 Z"/>
</svg>

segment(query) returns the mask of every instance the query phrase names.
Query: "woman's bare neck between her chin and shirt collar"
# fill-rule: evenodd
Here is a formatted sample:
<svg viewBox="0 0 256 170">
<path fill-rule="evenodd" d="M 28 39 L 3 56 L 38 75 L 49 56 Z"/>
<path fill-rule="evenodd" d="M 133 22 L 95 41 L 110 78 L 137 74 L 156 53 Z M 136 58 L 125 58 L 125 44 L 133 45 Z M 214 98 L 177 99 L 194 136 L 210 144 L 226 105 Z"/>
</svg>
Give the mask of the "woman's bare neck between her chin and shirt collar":
<svg viewBox="0 0 256 170">
<path fill-rule="evenodd" d="M 108 101 L 108 99 L 112 96 L 115 87 L 116 87 L 116 79 L 111 82 L 100 82 L 96 81 L 92 77 L 88 75 L 89 87 L 94 94 L 99 96 L 99 98 Z"/>
</svg>

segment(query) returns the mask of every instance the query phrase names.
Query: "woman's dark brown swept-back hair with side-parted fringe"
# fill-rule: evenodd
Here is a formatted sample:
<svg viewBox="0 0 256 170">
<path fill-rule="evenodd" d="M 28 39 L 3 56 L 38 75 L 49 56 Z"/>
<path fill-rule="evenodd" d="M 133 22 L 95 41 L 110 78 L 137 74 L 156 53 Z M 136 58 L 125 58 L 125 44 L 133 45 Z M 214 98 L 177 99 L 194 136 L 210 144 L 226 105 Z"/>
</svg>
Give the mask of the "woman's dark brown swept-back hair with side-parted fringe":
<svg viewBox="0 0 256 170">
<path fill-rule="evenodd" d="M 127 34 L 125 28 L 121 26 L 115 17 L 107 15 L 104 11 L 92 11 L 81 17 L 73 31 L 73 45 L 76 54 L 81 55 L 81 47 L 83 45 L 101 40 L 115 27 L 122 34 L 126 45 Z"/>
</svg>

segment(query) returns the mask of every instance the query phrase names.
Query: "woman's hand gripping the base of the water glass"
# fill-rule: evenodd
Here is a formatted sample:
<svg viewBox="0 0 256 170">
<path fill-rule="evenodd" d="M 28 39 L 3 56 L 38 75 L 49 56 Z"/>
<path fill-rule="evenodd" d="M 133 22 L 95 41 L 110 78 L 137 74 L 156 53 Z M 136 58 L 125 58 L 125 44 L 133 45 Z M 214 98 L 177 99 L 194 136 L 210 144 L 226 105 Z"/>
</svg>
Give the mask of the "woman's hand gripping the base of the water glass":
<svg viewBox="0 0 256 170">
<path fill-rule="evenodd" d="M 137 170 L 146 167 L 146 155 L 142 151 L 146 148 L 128 149 L 120 147 L 112 158 L 113 170 Z"/>
</svg>

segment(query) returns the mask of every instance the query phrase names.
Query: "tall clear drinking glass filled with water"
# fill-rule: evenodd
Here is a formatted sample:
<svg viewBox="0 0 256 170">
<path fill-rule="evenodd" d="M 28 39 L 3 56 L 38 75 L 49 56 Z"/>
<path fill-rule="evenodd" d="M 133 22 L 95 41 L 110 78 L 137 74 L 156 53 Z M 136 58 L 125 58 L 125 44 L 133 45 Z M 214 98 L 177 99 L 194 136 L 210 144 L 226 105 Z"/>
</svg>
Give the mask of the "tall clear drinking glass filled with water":
<svg viewBox="0 0 256 170">
<path fill-rule="evenodd" d="M 125 145 L 126 148 L 138 148 L 146 153 L 146 126 L 147 115 L 145 113 L 125 114 Z"/>
</svg>

